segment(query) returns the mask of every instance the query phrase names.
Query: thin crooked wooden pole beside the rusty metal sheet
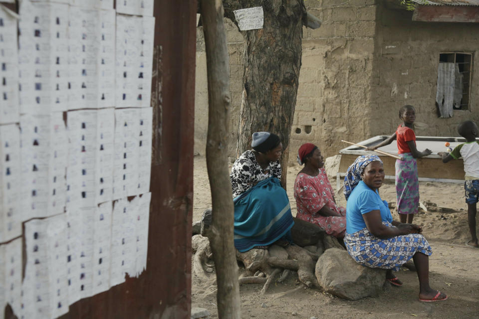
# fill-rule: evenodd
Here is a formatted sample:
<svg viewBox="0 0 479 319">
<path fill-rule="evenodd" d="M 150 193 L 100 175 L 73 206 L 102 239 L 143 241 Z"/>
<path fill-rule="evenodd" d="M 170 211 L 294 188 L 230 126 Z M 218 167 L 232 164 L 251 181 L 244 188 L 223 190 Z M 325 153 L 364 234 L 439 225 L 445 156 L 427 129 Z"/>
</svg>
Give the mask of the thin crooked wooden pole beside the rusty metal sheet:
<svg viewBox="0 0 479 319">
<path fill-rule="evenodd" d="M 209 239 L 218 283 L 218 317 L 240 319 L 240 286 L 234 246 L 234 207 L 228 169 L 231 112 L 230 64 L 221 0 L 201 0 L 208 72 L 206 160 L 212 196 Z"/>
</svg>

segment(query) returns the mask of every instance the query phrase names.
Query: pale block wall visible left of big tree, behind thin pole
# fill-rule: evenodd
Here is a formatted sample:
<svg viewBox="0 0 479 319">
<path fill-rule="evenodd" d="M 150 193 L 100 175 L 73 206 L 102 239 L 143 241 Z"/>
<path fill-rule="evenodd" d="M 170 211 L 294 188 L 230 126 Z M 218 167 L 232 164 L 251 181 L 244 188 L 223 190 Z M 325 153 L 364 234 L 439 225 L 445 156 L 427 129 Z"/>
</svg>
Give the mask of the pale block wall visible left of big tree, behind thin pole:
<svg viewBox="0 0 479 319">
<path fill-rule="evenodd" d="M 225 18 L 225 27 L 230 53 L 230 92 L 232 98 L 228 155 L 234 161 L 236 159 L 238 116 L 241 106 L 244 39 L 230 19 Z M 203 27 L 197 28 L 196 38 L 195 154 L 205 156 L 208 134 L 208 80 Z"/>
</svg>

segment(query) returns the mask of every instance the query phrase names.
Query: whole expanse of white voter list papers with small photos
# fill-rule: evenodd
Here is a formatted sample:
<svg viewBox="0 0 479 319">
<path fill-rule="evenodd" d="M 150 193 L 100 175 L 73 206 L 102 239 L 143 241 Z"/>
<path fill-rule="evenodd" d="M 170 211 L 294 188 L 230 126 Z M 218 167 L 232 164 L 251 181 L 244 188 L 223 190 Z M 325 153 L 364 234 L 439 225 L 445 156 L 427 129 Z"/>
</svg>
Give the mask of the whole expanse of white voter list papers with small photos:
<svg viewBox="0 0 479 319">
<path fill-rule="evenodd" d="M 0 318 L 146 268 L 153 0 L 0 5 Z"/>
</svg>

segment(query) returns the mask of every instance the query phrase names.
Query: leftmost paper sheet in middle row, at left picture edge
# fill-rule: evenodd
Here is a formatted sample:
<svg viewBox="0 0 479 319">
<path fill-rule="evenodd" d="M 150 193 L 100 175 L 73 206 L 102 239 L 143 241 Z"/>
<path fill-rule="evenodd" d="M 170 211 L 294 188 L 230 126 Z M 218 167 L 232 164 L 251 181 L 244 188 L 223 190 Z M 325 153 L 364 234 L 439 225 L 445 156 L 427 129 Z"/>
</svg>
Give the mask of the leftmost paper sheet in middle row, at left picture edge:
<svg viewBox="0 0 479 319">
<path fill-rule="evenodd" d="M 21 235 L 22 210 L 20 130 L 16 124 L 0 125 L 0 242 Z"/>
</svg>

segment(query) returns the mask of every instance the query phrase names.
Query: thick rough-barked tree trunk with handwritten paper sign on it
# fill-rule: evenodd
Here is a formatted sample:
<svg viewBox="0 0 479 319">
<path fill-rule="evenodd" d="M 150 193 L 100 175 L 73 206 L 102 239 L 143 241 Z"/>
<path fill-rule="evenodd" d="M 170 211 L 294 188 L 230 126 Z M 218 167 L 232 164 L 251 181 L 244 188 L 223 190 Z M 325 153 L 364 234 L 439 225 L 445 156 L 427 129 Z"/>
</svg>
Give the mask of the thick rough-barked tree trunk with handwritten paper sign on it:
<svg viewBox="0 0 479 319">
<path fill-rule="evenodd" d="M 241 31 L 245 40 L 243 92 L 237 156 L 251 148 L 251 134 L 268 131 L 281 137 L 281 183 L 286 185 L 289 137 L 301 67 L 303 0 L 224 0 L 225 15 L 262 6 L 262 29 Z M 293 151 L 295 153 L 295 150 Z"/>
</svg>

